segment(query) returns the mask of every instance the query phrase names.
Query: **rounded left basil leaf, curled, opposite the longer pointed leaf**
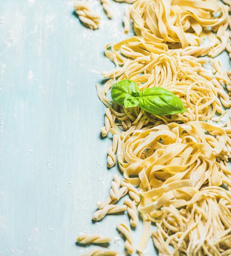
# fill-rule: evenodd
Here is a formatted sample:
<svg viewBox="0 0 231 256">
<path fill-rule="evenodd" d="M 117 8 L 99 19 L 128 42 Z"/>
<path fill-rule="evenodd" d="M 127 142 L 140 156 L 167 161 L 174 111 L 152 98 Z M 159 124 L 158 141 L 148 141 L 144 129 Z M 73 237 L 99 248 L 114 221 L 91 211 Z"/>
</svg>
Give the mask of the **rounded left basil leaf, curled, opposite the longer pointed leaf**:
<svg viewBox="0 0 231 256">
<path fill-rule="evenodd" d="M 111 98 L 118 105 L 124 105 L 129 96 L 139 97 L 140 91 L 137 83 L 131 80 L 121 80 L 112 85 Z"/>
</svg>

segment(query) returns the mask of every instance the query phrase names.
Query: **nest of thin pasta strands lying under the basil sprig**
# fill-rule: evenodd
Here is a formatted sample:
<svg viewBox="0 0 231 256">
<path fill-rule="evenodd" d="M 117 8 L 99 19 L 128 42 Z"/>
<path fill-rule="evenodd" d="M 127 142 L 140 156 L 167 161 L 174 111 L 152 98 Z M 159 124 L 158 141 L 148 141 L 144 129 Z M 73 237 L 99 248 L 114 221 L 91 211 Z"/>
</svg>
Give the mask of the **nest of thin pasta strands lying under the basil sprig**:
<svg viewBox="0 0 231 256">
<path fill-rule="evenodd" d="M 124 53 L 125 54 L 125 53 Z M 211 62 L 214 66 L 214 78 L 203 67 L 207 60 L 196 58 L 179 53 L 150 56 L 137 56 L 134 60 L 127 60 L 123 67 L 118 67 L 110 72 L 103 72 L 104 78 L 109 80 L 104 85 L 102 92 L 97 86 L 101 101 L 109 110 L 106 118 L 110 119 L 110 124 L 105 128 L 103 136 L 106 136 L 115 119 L 121 121 L 123 129 L 127 130 L 132 125 L 145 118 L 149 124 L 154 124 L 157 120 L 162 120 L 165 124 L 171 121 L 189 122 L 195 120 L 211 119 L 215 113 L 223 113 L 222 105 L 231 106 L 231 100 L 225 92 L 222 84 L 231 85 L 228 75 L 222 71 L 219 61 Z M 140 90 L 150 87 L 164 87 L 177 95 L 185 104 L 187 111 L 171 116 L 154 116 L 141 110 L 140 107 L 124 108 L 123 106 L 111 105 L 106 93 L 117 81 L 130 79 L 135 81 Z M 218 99 L 220 97 L 220 100 Z M 106 125 L 107 126 L 107 125 Z"/>
</svg>

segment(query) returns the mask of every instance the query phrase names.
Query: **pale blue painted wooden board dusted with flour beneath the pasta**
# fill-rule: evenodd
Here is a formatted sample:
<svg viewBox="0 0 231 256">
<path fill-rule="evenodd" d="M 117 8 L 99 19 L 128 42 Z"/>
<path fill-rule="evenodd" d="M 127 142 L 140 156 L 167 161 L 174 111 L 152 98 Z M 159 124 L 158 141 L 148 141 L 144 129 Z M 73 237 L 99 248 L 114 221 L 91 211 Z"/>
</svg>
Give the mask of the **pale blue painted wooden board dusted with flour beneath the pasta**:
<svg viewBox="0 0 231 256">
<path fill-rule="evenodd" d="M 97 31 L 80 24 L 71 0 L 0 0 L 0 255 L 79 256 L 90 249 L 75 244 L 79 232 L 110 235 L 123 252 L 115 226 L 128 216 L 91 216 L 118 173 L 106 168 L 111 140 L 100 138 L 95 84 L 114 67 L 104 46 L 129 37 L 125 4 L 111 1 L 108 20 L 89 1 L 102 17 Z M 136 245 L 141 233 L 140 222 Z M 144 255 L 153 251 L 150 239 Z"/>
</svg>

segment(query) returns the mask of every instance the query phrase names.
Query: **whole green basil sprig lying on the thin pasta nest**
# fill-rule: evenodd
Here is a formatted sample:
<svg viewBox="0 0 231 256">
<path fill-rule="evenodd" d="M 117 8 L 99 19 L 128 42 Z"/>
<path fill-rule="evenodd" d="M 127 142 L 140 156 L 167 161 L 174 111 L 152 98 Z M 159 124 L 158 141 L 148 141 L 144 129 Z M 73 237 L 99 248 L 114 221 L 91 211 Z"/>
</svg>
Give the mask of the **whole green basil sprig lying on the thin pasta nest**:
<svg viewBox="0 0 231 256">
<path fill-rule="evenodd" d="M 139 91 L 132 80 L 122 80 L 113 84 L 111 98 L 125 108 L 140 106 L 148 113 L 163 116 L 186 111 L 183 102 L 175 94 L 162 87 L 152 87 Z"/>
</svg>

